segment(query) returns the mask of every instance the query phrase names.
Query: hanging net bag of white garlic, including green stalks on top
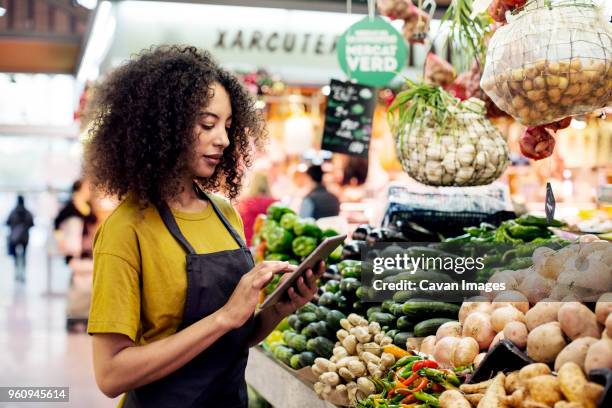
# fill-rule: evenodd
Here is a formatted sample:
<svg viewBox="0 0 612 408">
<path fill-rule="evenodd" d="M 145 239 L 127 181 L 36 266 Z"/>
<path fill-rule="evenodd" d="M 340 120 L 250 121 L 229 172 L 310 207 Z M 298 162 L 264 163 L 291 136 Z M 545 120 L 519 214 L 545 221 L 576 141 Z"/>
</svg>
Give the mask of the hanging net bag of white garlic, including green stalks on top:
<svg viewBox="0 0 612 408">
<path fill-rule="evenodd" d="M 501 176 L 508 145 L 484 116 L 484 102 L 461 102 L 439 87 L 409 84 L 388 112 L 404 170 L 433 186 L 484 185 Z"/>
</svg>

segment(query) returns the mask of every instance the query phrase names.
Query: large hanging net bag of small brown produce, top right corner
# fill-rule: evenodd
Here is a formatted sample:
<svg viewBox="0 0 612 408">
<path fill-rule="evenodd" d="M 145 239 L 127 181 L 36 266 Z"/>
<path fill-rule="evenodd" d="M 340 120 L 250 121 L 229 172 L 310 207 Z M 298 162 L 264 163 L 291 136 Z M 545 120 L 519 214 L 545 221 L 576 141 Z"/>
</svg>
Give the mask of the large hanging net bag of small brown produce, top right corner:
<svg viewBox="0 0 612 408">
<path fill-rule="evenodd" d="M 527 126 L 612 102 L 612 29 L 591 0 L 532 0 L 508 14 L 487 50 L 481 86 Z"/>
</svg>

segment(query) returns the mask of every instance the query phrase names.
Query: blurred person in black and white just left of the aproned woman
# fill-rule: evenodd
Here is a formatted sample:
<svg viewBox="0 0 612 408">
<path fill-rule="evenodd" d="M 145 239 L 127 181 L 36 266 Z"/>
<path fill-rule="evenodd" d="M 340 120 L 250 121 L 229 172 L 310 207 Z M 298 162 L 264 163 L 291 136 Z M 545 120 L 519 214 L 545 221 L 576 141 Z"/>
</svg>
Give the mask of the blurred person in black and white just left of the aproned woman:
<svg viewBox="0 0 612 408">
<path fill-rule="evenodd" d="M 96 221 L 91 207 L 89 182 L 77 180 L 72 184 L 70 200 L 54 221 L 55 237 L 59 251 L 66 257 L 66 263 L 72 258 L 91 258 L 91 245 L 83 243 L 91 236 Z"/>
</svg>

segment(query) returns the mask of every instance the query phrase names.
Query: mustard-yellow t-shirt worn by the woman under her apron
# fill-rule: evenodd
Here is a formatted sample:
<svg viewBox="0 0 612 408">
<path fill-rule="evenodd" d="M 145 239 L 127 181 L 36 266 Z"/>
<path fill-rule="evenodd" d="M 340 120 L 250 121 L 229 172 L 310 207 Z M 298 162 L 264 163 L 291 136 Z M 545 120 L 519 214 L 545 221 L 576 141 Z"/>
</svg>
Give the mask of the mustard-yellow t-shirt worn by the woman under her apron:
<svg viewBox="0 0 612 408">
<path fill-rule="evenodd" d="M 225 199 L 209 194 L 244 239 L 242 220 Z M 172 210 L 197 253 L 237 249 L 209 204 L 200 213 Z M 126 198 L 98 230 L 88 333 L 125 334 L 144 345 L 176 332 L 183 317 L 185 250 L 154 207 Z"/>
</svg>

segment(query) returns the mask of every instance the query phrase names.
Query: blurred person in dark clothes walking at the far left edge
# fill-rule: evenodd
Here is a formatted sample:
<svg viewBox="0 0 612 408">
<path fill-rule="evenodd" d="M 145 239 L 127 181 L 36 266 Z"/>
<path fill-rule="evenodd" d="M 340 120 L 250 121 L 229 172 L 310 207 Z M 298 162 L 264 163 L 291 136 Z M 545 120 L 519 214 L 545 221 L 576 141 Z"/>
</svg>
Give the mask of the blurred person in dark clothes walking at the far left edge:
<svg viewBox="0 0 612 408">
<path fill-rule="evenodd" d="M 26 250 L 34 217 L 25 208 L 21 194 L 17 196 L 17 206 L 9 214 L 6 225 L 9 227 L 8 253 L 15 260 L 15 280 L 25 282 Z"/>
</svg>

